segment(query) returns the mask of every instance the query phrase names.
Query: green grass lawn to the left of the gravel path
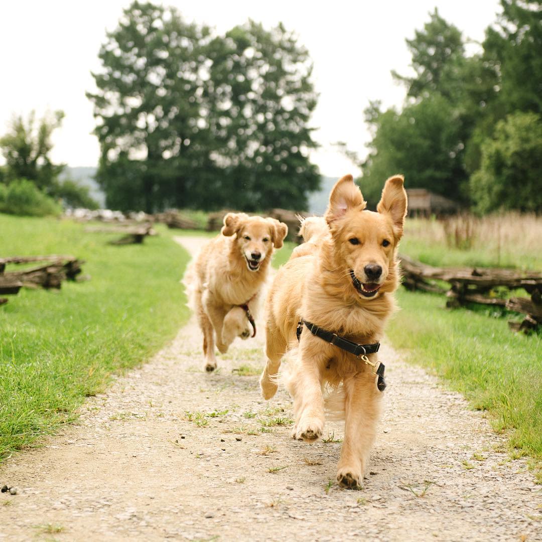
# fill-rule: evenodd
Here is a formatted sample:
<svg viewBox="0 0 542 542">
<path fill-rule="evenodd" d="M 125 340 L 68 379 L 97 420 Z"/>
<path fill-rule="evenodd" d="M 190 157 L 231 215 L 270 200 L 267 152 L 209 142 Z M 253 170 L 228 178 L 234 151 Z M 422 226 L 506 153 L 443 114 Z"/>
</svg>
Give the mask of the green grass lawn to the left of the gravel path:
<svg viewBox="0 0 542 542">
<path fill-rule="evenodd" d="M 138 246 L 109 246 L 118 235 L 84 229 L 0 214 L 0 256 L 70 254 L 91 275 L 60 292 L 22 289 L 0 307 L 0 459 L 72 421 L 86 396 L 144 362 L 188 318 L 179 283 L 188 254 L 165 228 Z"/>
</svg>

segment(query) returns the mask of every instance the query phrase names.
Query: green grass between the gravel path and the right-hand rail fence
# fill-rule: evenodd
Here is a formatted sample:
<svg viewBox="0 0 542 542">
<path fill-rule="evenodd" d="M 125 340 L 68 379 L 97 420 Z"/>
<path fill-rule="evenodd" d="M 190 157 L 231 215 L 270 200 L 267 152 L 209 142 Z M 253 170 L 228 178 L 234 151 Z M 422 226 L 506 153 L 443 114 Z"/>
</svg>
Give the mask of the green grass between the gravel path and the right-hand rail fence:
<svg viewBox="0 0 542 542">
<path fill-rule="evenodd" d="M 542 460 L 542 338 L 508 329 L 507 318 L 467 309 L 449 311 L 444 296 L 397 293 L 388 326 L 393 346 L 448 380 L 495 430 L 510 430 L 512 447 Z"/>
</svg>

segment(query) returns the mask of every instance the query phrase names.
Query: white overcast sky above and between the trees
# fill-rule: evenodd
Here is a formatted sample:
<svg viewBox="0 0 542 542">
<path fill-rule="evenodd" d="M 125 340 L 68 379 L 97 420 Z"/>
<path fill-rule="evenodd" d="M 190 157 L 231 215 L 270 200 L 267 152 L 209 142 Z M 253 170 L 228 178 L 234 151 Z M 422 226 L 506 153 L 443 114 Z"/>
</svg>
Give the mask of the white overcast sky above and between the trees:
<svg viewBox="0 0 542 542">
<path fill-rule="evenodd" d="M 98 50 L 129 0 L 17 0 L 0 2 L 0 134 L 12 115 L 35 109 L 62 109 L 62 128 L 55 132 L 51 156 L 69 166 L 96 165 L 98 141 L 91 103 L 91 70 L 99 70 Z M 223 32 L 248 18 L 266 27 L 282 21 L 299 36 L 314 62 L 313 80 L 320 99 L 312 118 L 312 154 L 321 173 L 357 173 L 332 143 L 346 141 L 362 156 L 369 140 L 363 109 L 371 99 L 384 106 L 401 105 L 405 91 L 393 83 L 390 70 L 408 73 L 405 38 L 414 36 L 435 7 L 464 36 L 483 40 L 484 30 L 500 11 L 498 0 L 404 0 L 380 2 L 273 2 L 172 0 L 188 21 L 207 23 Z M 1 159 L 1 158 L 0 158 Z"/>
</svg>

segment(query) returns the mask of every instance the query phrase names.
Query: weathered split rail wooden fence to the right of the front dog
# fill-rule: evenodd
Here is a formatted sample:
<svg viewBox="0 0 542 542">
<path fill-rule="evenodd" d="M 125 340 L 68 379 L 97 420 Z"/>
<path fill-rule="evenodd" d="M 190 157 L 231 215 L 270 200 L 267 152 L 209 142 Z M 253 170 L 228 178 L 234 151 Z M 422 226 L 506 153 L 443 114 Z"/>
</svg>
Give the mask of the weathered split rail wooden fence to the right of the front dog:
<svg viewBox="0 0 542 542">
<path fill-rule="evenodd" d="M 527 331 L 542 324 L 542 273 L 521 272 L 514 269 L 450 267 L 440 268 L 400 255 L 403 286 L 409 290 L 423 290 L 446 294 L 447 307 L 469 303 L 505 307 L 525 315 L 521 322 L 508 322 L 514 331 Z M 442 282 L 449 283 L 446 288 Z M 509 290 L 523 288 L 531 298 L 495 296 L 495 288 Z"/>
</svg>

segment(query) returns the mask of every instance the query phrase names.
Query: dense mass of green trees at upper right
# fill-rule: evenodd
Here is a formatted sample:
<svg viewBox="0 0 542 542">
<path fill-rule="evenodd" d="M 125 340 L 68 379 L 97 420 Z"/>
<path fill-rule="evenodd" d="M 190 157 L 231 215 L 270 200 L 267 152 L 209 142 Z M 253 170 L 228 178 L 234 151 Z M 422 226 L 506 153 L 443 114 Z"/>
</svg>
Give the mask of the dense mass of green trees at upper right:
<svg viewBox="0 0 542 542">
<path fill-rule="evenodd" d="M 382 179 L 404 173 L 426 188 L 485 213 L 542 211 L 542 10 L 538 0 L 501 0 L 479 54 L 435 11 L 406 40 L 413 77 L 401 111 L 365 109 L 372 130 L 360 165 L 364 196 L 378 201 Z"/>
</svg>

